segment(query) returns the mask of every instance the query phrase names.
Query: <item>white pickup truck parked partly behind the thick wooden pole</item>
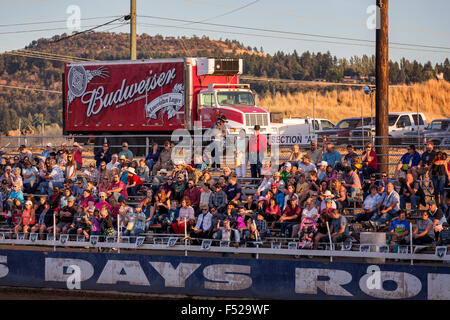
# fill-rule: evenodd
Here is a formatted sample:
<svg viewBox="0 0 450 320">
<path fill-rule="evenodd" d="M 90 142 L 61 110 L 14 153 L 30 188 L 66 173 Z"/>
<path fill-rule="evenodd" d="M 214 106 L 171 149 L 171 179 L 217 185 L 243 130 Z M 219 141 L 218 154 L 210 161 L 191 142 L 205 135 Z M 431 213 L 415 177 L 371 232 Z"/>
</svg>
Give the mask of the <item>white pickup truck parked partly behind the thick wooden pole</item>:
<svg viewBox="0 0 450 320">
<path fill-rule="evenodd" d="M 393 112 L 388 115 L 389 122 L 389 144 L 399 145 L 408 143 L 417 143 L 411 141 L 411 138 L 416 135 L 417 132 L 423 132 L 427 127 L 427 120 L 423 113 L 417 114 L 416 112 Z M 364 139 L 363 139 L 364 132 Z M 351 138 L 349 139 L 355 145 L 362 145 L 366 141 L 374 142 L 375 126 L 364 126 L 352 130 Z"/>
</svg>

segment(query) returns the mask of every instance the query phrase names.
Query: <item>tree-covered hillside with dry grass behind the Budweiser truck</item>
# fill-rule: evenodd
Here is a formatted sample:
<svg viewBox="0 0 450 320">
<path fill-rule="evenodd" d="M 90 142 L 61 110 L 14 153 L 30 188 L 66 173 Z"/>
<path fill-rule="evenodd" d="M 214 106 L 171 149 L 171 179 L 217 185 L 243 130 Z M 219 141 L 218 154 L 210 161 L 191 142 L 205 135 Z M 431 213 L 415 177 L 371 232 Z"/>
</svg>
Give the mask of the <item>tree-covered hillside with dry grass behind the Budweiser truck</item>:
<svg viewBox="0 0 450 320">
<path fill-rule="evenodd" d="M 51 39 L 38 39 L 30 43 L 25 49 L 39 52 L 59 54 L 92 60 L 117 60 L 129 58 L 129 35 L 127 33 L 92 32 L 63 41 L 54 42 L 66 34 L 54 36 Z M 209 57 L 239 57 L 244 59 L 244 75 L 288 80 L 320 80 L 341 82 L 352 80 L 357 82 L 370 82 L 374 76 L 375 57 L 351 57 L 350 59 L 337 59 L 327 53 L 302 54 L 294 51 L 286 54 L 277 52 L 274 55 L 264 53 L 262 48 L 246 47 L 234 40 L 210 40 L 208 37 L 162 37 L 142 34 L 137 38 L 137 57 L 165 58 L 182 56 L 209 56 Z M 67 57 L 62 57 L 67 60 Z M 2 86 L 16 86 L 39 88 L 61 92 L 61 74 L 63 61 L 40 59 L 33 57 L 0 55 L 0 133 L 15 130 L 22 120 L 21 128 L 40 127 L 42 124 L 61 125 L 61 95 L 55 92 L 41 92 L 29 90 L 16 90 Z M 446 80 L 450 80 L 450 63 L 448 59 L 441 64 L 432 66 L 431 63 L 420 64 L 403 59 L 400 63 L 391 62 L 390 80 L 392 84 L 422 83 L 435 79 L 442 73 Z M 324 97 L 319 106 L 346 106 L 345 114 L 354 114 L 354 110 L 347 106 L 360 105 L 355 99 L 348 102 L 349 97 L 357 97 L 360 89 L 335 87 L 305 88 L 292 86 L 282 82 L 251 81 L 252 88 L 262 98 L 265 106 L 274 108 L 293 109 L 293 106 L 308 106 L 313 92 Z M 439 90 L 439 89 L 438 89 Z M 421 92 L 427 97 L 428 91 Z M 445 93 L 448 92 L 445 91 Z M 275 101 L 271 96 L 276 93 Z M 298 95 L 297 95 L 298 93 Z M 444 96 L 446 94 L 444 93 Z M 442 94 L 442 93 L 439 93 Z M 434 94 L 433 94 L 434 96 Z M 265 100 L 266 99 L 266 100 Z M 393 99 L 396 99 L 393 97 Z M 421 99 L 421 97 L 420 97 Z M 332 102 L 335 101 L 335 102 Z M 443 101 L 448 101 L 448 96 Z M 405 107 L 409 105 L 405 102 Z M 396 104 L 400 106 L 403 104 Z M 414 103 L 415 105 L 415 103 Z M 445 107 L 442 104 L 431 104 Z M 430 107 L 428 108 L 431 108 Z M 360 107 L 356 114 L 360 113 Z M 445 110 L 448 110 L 445 109 Z M 444 110 L 444 111 L 445 111 Z M 319 116 L 319 114 L 317 114 Z M 342 114 L 343 116 L 343 114 Z M 331 119 L 331 118 L 330 118 Z"/>
</svg>

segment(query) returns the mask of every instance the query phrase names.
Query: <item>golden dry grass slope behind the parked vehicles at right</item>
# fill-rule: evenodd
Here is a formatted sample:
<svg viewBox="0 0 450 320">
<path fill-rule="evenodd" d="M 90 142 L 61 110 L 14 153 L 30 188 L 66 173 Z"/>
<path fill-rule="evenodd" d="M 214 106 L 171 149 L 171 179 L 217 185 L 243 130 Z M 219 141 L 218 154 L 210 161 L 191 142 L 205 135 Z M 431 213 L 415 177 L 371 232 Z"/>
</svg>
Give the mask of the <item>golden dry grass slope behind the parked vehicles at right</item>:
<svg viewBox="0 0 450 320">
<path fill-rule="evenodd" d="M 428 122 L 437 118 L 450 117 L 450 83 L 447 81 L 430 80 L 411 86 L 391 86 L 389 88 L 389 111 L 423 112 Z M 375 97 L 373 114 L 375 115 Z M 339 120 L 361 116 L 363 106 L 364 116 L 370 116 L 370 97 L 362 89 L 335 89 L 327 93 L 308 91 L 305 93 L 266 96 L 259 105 L 266 110 L 281 111 L 286 116 L 313 116 L 314 99 L 316 99 L 315 117 L 326 118 L 337 123 Z"/>
</svg>

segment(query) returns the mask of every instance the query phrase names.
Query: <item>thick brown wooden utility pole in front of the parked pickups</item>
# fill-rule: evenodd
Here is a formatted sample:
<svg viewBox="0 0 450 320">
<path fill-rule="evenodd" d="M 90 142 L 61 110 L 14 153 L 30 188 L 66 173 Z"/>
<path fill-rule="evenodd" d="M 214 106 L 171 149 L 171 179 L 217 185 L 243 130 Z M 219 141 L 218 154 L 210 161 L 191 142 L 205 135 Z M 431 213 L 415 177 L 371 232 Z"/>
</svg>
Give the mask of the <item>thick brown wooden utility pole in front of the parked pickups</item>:
<svg viewBox="0 0 450 320">
<path fill-rule="evenodd" d="M 378 169 L 389 173 L 389 0 L 376 0 L 380 25 L 376 31 L 376 152 Z M 381 137 L 381 138 L 379 138 Z"/>
</svg>

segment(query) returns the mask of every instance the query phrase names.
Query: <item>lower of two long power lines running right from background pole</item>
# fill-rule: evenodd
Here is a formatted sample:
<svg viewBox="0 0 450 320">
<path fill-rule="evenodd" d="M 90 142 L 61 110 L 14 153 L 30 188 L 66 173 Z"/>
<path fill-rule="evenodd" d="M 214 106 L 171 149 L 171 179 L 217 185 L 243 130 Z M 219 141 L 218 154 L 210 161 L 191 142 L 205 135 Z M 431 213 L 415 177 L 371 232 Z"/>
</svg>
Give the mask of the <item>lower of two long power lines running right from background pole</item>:
<svg viewBox="0 0 450 320">
<path fill-rule="evenodd" d="M 147 23 L 138 23 L 138 24 L 140 26 L 148 26 L 148 27 L 178 28 L 178 29 L 187 29 L 187 30 L 204 31 L 204 32 L 215 32 L 215 33 L 221 33 L 221 34 L 228 33 L 228 34 L 260 37 L 260 38 L 270 38 L 270 39 L 307 41 L 307 42 L 315 42 L 315 43 L 327 43 L 327 44 L 337 44 L 337 45 L 347 45 L 347 46 L 357 46 L 357 47 L 368 47 L 368 48 L 374 48 L 375 47 L 374 44 L 369 45 L 369 44 L 361 44 L 361 43 L 349 43 L 349 42 L 337 42 L 337 41 L 316 40 L 316 39 L 293 38 L 293 37 L 283 37 L 283 36 L 265 35 L 265 34 L 257 34 L 257 33 L 244 33 L 244 32 L 224 31 L 224 30 L 199 29 L 199 28 L 168 26 L 168 25 L 160 25 L 160 24 L 147 24 Z M 436 50 L 428 50 L 428 49 L 421 50 L 421 49 L 401 48 L 401 47 L 390 47 L 390 48 L 391 49 L 397 49 L 397 50 L 407 50 L 407 51 L 448 53 L 447 51 L 436 51 Z"/>
</svg>

